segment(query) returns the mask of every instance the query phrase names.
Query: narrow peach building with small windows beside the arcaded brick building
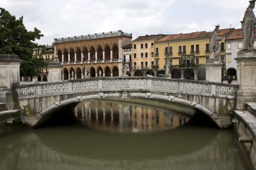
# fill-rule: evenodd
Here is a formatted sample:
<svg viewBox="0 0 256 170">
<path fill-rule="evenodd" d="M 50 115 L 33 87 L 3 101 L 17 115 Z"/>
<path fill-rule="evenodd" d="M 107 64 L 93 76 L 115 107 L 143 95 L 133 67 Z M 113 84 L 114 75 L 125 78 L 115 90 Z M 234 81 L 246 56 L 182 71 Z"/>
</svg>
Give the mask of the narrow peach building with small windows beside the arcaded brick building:
<svg viewBox="0 0 256 170">
<path fill-rule="evenodd" d="M 164 35 L 139 36 L 133 40 L 133 75 L 155 75 L 154 44 Z"/>
</svg>

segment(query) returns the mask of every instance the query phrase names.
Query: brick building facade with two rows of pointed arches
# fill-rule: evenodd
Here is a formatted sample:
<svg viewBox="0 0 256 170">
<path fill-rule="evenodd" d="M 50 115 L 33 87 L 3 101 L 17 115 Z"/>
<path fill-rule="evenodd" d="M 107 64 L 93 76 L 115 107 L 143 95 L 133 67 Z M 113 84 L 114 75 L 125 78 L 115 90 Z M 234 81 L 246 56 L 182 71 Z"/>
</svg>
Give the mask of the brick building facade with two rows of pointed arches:
<svg viewBox="0 0 256 170">
<path fill-rule="evenodd" d="M 62 65 L 62 79 L 121 76 L 122 49 L 131 44 L 131 38 L 132 34 L 119 30 L 55 39 L 55 56 Z"/>
</svg>

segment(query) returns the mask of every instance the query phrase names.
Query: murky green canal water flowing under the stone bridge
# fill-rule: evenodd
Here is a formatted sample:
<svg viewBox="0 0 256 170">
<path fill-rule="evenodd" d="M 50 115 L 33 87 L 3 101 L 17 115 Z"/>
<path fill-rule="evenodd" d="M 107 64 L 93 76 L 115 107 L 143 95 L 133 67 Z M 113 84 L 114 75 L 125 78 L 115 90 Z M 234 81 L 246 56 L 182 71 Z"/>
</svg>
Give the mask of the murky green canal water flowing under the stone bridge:
<svg viewBox="0 0 256 170">
<path fill-rule="evenodd" d="M 0 169 L 251 169 L 233 130 L 195 126 L 193 112 L 164 101 L 83 101 L 75 121 L 1 136 Z"/>
</svg>

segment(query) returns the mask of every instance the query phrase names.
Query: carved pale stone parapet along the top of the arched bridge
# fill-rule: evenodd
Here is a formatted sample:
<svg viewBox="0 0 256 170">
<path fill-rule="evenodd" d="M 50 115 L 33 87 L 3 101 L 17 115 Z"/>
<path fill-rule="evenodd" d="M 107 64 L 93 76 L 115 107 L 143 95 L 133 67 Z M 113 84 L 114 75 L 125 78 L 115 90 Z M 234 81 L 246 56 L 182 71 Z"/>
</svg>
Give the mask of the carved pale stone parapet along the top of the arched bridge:
<svg viewBox="0 0 256 170">
<path fill-rule="evenodd" d="M 61 95 L 63 93 L 84 93 L 87 91 L 161 91 L 191 95 L 232 98 L 236 97 L 238 85 L 164 79 L 156 77 L 99 77 L 55 83 L 16 86 L 18 97 L 38 95 Z"/>
</svg>

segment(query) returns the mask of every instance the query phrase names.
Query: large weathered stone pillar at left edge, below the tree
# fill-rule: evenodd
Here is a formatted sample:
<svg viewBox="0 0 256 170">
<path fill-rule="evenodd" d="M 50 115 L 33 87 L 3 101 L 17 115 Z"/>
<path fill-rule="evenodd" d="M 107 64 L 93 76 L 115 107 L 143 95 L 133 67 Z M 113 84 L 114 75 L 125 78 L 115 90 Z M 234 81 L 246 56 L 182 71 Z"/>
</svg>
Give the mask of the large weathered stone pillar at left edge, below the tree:
<svg viewBox="0 0 256 170">
<path fill-rule="evenodd" d="M 20 85 L 20 62 L 17 55 L 0 54 L 0 103 L 7 110 L 19 108 L 13 87 Z"/>
</svg>

